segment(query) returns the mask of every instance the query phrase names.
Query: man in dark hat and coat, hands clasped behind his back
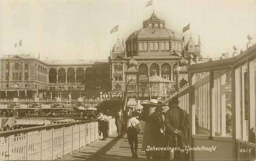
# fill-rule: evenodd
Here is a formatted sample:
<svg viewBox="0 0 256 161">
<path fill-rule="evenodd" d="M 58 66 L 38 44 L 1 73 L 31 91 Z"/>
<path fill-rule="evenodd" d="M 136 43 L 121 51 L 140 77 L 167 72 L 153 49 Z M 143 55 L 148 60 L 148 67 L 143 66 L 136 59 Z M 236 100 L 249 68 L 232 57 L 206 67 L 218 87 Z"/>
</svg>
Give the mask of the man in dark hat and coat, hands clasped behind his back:
<svg viewBox="0 0 256 161">
<path fill-rule="evenodd" d="M 166 112 L 164 120 L 164 125 L 166 128 L 165 140 L 167 144 L 166 147 L 179 147 L 181 149 L 181 151 L 177 151 L 178 157 L 176 159 L 183 160 L 184 148 L 185 146 L 189 146 L 189 115 L 185 110 L 178 106 L 179 102 L 180 101 L 178 101 L 177 97 L 173 97 L 168 104 L 169 110 Z M 172 160 L 173 158 L 174 151 L 168 151 L 167 159 Z"/>
</svg>

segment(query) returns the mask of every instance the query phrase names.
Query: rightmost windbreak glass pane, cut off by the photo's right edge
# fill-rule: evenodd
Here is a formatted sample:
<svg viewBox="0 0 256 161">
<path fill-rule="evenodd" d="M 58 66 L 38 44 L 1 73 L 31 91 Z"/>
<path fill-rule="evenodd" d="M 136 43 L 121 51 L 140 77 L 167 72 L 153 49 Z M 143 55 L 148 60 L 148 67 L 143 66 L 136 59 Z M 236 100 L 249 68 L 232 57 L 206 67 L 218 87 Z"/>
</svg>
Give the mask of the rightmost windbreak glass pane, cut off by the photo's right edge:
<svg viewBox="0 0 256 161">
<path fill-rule="evenodd" d="M 249 63 L 250 72 L 250 131 L 249 142 L 255 144 L 255 107 L 256 107 L 256 58 Z"/>
</svg>

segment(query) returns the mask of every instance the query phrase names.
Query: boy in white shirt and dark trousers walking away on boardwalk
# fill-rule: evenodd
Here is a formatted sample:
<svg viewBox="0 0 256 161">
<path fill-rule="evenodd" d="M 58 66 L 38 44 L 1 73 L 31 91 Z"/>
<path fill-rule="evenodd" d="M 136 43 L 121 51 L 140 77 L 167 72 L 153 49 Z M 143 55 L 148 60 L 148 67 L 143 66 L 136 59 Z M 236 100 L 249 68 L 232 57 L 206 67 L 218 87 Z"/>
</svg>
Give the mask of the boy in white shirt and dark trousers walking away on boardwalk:
<svg viewBox="0 0 256 161">
<path fill-rule="evenodd" d="M 127 135 L 128 142 L 130 144 L 130 149 L 132 152 L 133 158 L 138 158 L 137 150 L 138 150 L 138 134 L 140 133 L 140 121 L 138 120 L 139 113 L 136 111 L 132 112 L 132 118 L 128 120 L 127 123 Z"/>
</svg>

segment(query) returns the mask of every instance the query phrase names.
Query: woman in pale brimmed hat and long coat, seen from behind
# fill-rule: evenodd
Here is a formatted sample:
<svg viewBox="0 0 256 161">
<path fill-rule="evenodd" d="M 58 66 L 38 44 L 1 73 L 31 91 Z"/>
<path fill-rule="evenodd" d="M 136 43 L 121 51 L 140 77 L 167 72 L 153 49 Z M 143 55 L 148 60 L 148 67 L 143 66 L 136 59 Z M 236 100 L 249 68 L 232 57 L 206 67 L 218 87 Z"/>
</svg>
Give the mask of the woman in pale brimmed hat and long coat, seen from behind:
<svg viewBox="0 0 256 161">
<path fill-rule="evenodd" d="M 146 152 L 146 157 L 148 160 L 150 160 L 151 157 L 151 152 L 147 151 L 148 146 L 153 145 L 153 124 L 152 120 L 150 119 L 150 116 L 155 112 L 155 108 L 159 106 L 158 101 L 156 99 L 151 99 L 149 103 L 143 108 L 143 112 L 145 112 L 144 115 L 144 120 L 145 120 L 145 125 L 144 125 L 144 130 L 143 130 L 143 136 L 142 136 L 142 145 L 141 145 L 141 150 Z"/>
</svg>

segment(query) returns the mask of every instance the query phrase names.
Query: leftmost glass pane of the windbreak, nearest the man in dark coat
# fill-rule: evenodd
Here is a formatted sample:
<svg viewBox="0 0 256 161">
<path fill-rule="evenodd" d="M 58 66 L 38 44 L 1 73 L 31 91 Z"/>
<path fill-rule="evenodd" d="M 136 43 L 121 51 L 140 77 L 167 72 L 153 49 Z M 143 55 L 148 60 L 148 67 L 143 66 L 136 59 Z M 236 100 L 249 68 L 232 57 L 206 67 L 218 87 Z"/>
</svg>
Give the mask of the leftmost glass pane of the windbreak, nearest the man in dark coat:
<svg viewBox="0 0 256 161">
<path fill-rule="evenodd" d="M 195 110 L 193 116 L 194 133 L 198 135 L 210 135 L 210 106 L 209 106 L 209 72 L 195 73 L 193 75 L 194 85 L 192 92 L 192 108 Z"/>
</svg>

